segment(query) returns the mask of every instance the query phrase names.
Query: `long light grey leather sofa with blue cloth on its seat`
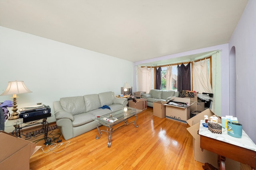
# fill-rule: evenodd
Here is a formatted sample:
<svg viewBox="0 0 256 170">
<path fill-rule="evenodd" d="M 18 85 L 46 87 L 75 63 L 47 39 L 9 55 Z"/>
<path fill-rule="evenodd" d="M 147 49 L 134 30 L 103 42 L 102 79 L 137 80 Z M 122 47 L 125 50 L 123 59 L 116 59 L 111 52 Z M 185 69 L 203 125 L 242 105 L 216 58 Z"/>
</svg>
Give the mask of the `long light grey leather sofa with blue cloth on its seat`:
<svg viewBox="0 0 256 170">
<path fill-rule="evenodd" d="M 126 98 L 117 98 L 114 92 L 103 92 L 60 98 L 53 102 L 53 108 L 56 125 L 64 139 L 68 140 L 97 128 L 94 121 L 97 116 L 116 111 L 127 104 Z"/>
</svg>

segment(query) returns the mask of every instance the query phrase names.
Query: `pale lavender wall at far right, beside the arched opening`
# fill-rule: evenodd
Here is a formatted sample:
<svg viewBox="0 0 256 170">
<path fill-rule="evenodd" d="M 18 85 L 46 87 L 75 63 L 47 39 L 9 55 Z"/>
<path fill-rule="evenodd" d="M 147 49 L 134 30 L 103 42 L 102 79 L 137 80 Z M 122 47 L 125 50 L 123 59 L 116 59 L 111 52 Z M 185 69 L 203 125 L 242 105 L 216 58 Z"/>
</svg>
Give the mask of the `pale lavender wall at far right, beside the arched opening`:
<svg viewBox="0 0 256 170">
<path fill-rule="evenodd" d="M 236 49 L 236 117 L 256 143 L 256 1 L 249 0 L 230 39 Z"/>
</svg>

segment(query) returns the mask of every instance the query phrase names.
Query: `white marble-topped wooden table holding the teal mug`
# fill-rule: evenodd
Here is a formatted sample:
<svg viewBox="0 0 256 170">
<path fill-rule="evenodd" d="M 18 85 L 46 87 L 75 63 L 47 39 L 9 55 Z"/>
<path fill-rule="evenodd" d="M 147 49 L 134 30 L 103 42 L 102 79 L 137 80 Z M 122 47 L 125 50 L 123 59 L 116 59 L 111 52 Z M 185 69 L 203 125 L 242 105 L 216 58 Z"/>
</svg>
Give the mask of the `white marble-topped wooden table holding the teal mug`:
<svg viewBox="0 0 256 170">
<path fill-rule="evenodd" d="M 228 133 L 222 134 L 211 133 L 208 128 L 202 126 L 204 120 L 200 121 L 200 147 L 209 150 L 218 155 L 218 169 L 225 170 L 226 157 L 251 166 L 252 170 L 256 169 L 256 145 L 242 131 L 242 138 L 235 138 Z M 207 165 L 207 164 L 206 164 Z"/>
</svg>

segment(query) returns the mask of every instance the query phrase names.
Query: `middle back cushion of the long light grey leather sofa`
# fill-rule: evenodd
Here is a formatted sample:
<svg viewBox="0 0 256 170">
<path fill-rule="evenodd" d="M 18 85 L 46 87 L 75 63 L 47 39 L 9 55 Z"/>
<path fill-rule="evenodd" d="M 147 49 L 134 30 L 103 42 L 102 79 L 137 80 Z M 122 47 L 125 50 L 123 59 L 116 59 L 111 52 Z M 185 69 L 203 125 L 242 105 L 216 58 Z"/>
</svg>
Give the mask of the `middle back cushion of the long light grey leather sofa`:
<svg viewBox="0 0 256 170">
<path fill-rule="evenodd" d="M 84 102 L 85 102 L 86 112 L 95 110 L 101 107 L 98 94 L 84 95 Z"/>
</svg>

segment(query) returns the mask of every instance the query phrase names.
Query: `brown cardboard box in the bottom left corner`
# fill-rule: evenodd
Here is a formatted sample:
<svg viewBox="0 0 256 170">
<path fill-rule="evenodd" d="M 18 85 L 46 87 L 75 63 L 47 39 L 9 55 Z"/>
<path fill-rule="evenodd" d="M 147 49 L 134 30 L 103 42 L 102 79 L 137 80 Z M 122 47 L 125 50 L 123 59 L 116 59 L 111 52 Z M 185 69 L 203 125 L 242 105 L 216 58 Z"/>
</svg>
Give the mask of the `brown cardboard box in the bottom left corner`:
<svg viewBox="0 0 256 170">
<path fill-rule="evenodd" d="M 30 156 L 40 147 L 35 143 L 0 131 L 1 169 L 29 170 Z"/>
</svg>

